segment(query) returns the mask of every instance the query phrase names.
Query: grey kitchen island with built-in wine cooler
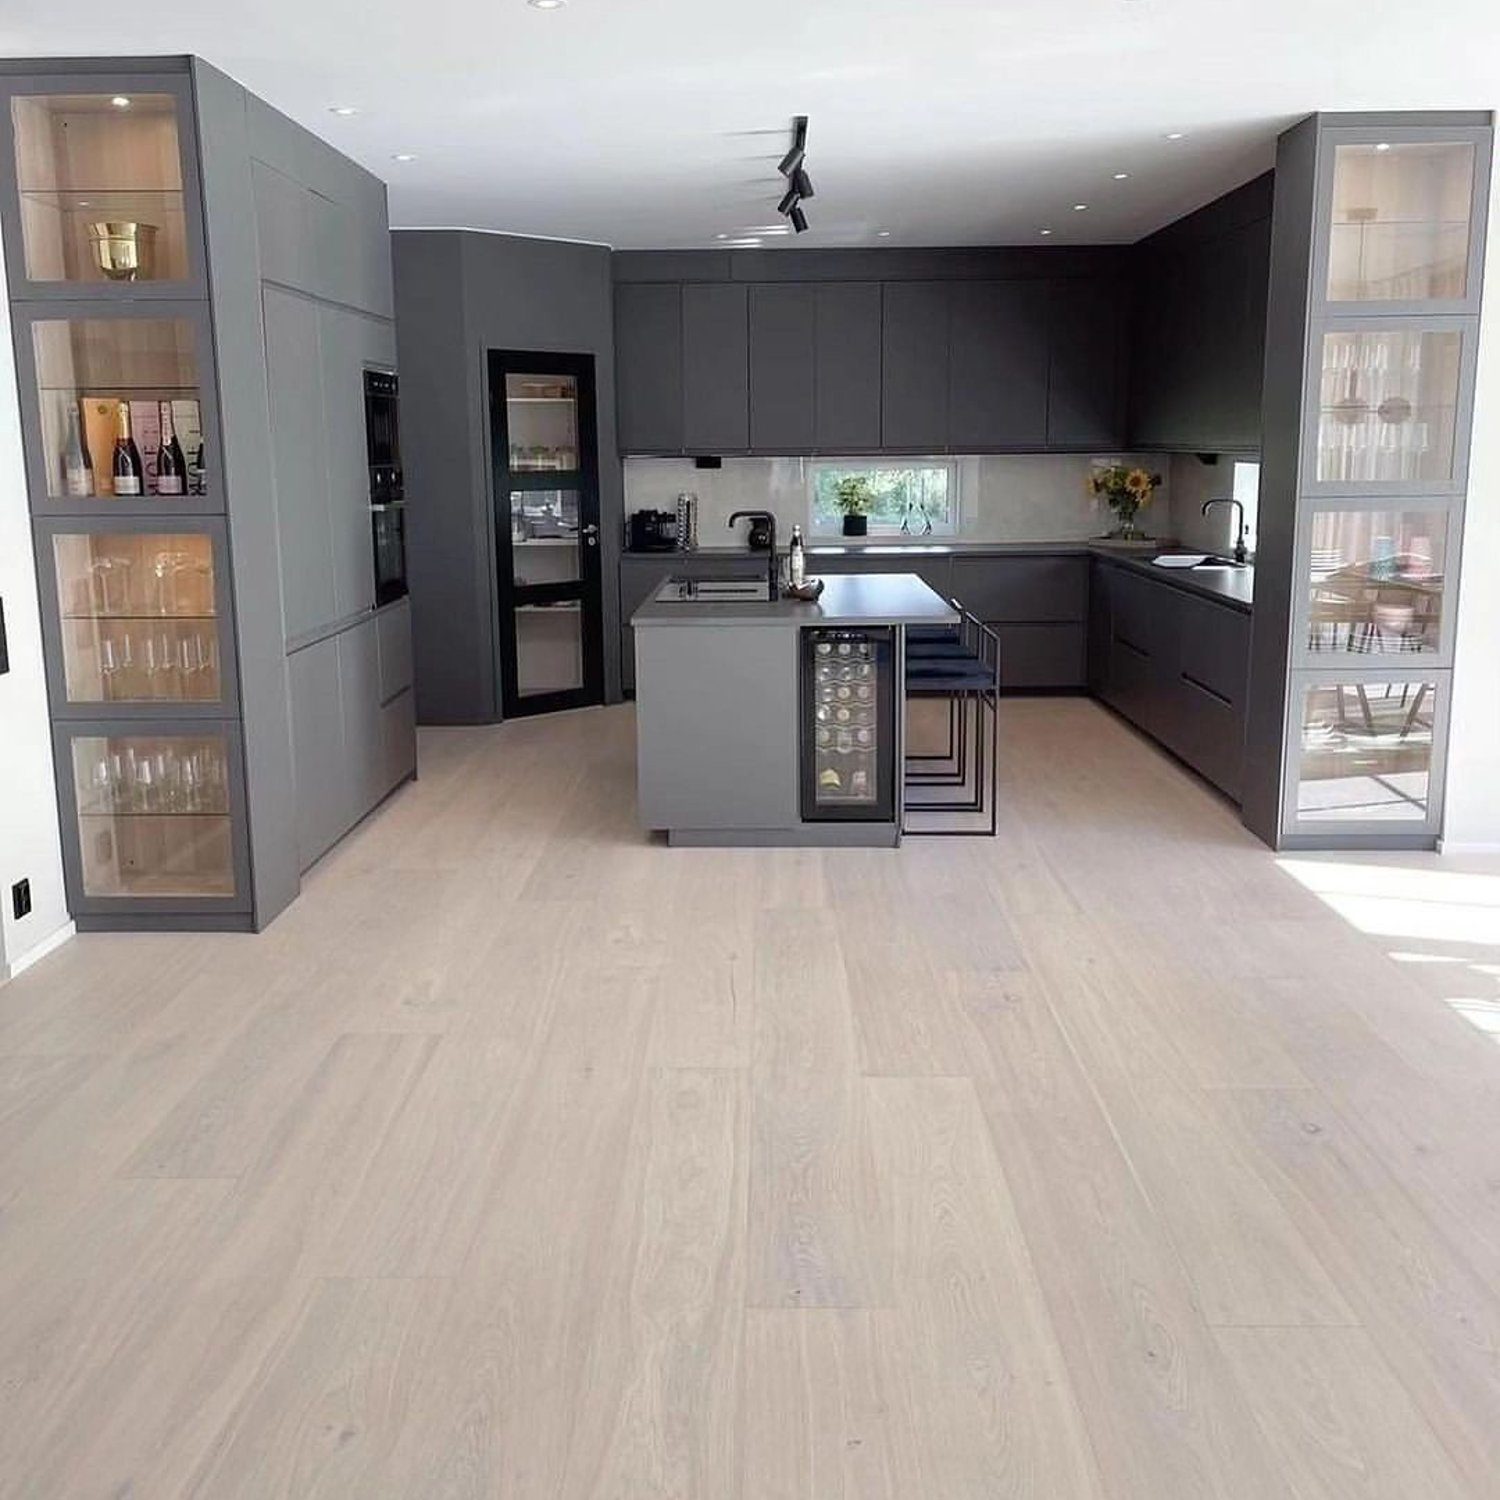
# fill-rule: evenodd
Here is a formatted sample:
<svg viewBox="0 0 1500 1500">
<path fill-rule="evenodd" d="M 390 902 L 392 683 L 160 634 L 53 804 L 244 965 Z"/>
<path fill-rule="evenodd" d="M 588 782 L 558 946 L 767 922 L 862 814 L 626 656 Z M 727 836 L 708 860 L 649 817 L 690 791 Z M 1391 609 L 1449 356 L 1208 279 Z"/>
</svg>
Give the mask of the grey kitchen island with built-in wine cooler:
<svg viewBox="0 0 1500 1500">
<path fill-rule="evenodd" d="M 705 598 L 632 616 L 636 786 L 674 844 L 902 838 L 906 630 L 957 610 L 915 573 L 830 574 L 820 598 Z"/>
</svg>

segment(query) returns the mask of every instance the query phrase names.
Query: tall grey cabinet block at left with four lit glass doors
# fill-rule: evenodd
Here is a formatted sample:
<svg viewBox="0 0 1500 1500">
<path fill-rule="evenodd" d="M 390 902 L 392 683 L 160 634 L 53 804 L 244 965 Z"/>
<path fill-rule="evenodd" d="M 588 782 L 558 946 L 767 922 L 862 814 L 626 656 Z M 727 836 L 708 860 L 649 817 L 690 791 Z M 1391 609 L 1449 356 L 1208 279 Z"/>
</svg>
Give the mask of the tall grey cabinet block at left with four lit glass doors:
<svg viewBox="0 0 1500 1500">
<path fill-rule="evenodd" d="M 363 438 L 360 370 L 394 362 L 384 188 L 198 58 L 6 62 L 0 120 L 69 904 L 260 928 L 416 764 Z M 309 776 L 338 808 L 315 849 Z"/>
</svg>

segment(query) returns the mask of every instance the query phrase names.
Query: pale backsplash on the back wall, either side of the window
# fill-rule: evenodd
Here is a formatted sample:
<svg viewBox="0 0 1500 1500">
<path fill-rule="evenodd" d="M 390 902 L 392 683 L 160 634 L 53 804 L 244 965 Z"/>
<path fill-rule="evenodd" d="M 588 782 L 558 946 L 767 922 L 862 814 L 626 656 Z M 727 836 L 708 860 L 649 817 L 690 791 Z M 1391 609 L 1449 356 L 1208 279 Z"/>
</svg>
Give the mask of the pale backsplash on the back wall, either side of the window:
<svg viewBox="0 0 1500 1500">
<path fill-rule="evenodd" d="M 1101 454 L 1104 458 L 1106 454 Z M 1164 478 L 1142 513 L 1146 531 L 1170 531 L 1170 476 L 1166 459 L 1152 454 L 1107 454 L 1112 462 L 1140 464 Z M 674 510 L 676 496 L 698 495 L 700 546 L 730 542 L 735 510 L 770 510 L 784 536 L 794 522 L 807 530 L 812 459 L 724 459 L 723 468 L 700 470 L 692 459 L 626 459 L 626 514 Z M 842 462 L 858 462 L 843 459 Z M 1088 454 L 1000 454 L 958 458 L 958 536 L 975 542 L 1076 542 L 1102 536 L 1113 520 L 1088 492 Z M 742 526 L 738 528 L 742 532 Z"/>
</svg>

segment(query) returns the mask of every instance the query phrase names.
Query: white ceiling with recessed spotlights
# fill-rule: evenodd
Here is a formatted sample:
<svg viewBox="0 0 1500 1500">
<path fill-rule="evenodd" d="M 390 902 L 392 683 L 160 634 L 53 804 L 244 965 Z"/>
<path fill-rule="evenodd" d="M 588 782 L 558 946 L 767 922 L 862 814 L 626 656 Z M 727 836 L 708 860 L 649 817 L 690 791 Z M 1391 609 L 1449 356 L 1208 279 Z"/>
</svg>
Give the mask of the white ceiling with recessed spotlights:
<svg viewBox="0 0 1500 1500">
<path fill-rule="evenodd" d="M 0 0 L 0 52 L 198 52 L 398 225 L 621 248 L 776 224 L 794 114 L 813 248 L 1134 240 L 1312 110 L 1500 105 L 1496 0 Z"/>
</svg>

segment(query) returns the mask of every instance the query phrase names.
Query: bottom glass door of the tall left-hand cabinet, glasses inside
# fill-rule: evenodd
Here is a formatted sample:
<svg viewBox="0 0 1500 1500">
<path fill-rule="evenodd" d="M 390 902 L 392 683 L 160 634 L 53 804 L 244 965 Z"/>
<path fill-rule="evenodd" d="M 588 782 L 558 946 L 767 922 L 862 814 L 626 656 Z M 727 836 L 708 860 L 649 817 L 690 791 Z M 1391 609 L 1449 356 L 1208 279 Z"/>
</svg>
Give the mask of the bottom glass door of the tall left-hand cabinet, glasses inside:
<svg viewBox="0 0 1500 1500">
<path fill-rule="evenodd" d="M 86 906 L 240 896 L 230 730 L 75 729 L 63 741 Z"/>
</svg>

